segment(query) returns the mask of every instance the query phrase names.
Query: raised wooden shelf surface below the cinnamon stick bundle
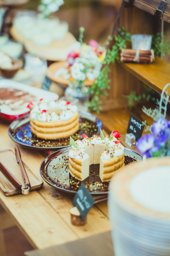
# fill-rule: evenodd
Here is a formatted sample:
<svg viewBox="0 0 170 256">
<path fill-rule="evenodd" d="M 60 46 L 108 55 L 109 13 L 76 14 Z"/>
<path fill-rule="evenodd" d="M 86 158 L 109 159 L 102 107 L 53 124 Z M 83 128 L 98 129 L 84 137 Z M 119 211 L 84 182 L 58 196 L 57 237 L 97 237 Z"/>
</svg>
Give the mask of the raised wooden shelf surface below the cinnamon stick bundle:
<svg viewBox="0 0 170 256">
<path fill-rule="evenodd" d="M 151 64 L 122 63 L 122 66 L 160 94 L 170 83 L 170 64 L 157 56 Z M 167 92 L 170 95 L 170 87 Z"/>
</svg>

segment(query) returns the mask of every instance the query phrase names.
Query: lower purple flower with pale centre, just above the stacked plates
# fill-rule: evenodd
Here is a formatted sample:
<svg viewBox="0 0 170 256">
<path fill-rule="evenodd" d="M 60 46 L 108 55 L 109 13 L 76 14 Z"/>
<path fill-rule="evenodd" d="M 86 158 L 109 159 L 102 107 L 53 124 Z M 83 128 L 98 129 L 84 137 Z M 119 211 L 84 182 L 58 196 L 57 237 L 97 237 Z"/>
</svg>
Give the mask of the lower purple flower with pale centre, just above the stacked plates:
<svg viewBox="0 0 170 256">
<path fill-rule="evenodd" d="M 152 152 L 158 151 L 160 146 L 160 140 L 153 134 L 143 135 L 143 137 L 139 138 L 136 143 L 137 150 L 147 158 L 152 156 Z"/>
</svg>

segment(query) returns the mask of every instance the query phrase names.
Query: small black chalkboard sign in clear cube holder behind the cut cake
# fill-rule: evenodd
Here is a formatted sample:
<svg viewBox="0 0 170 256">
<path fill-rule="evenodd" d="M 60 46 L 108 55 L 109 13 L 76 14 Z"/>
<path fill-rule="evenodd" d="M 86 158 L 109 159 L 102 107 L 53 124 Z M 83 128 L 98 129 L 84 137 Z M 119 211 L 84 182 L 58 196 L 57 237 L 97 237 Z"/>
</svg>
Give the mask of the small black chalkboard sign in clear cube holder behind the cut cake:
<svg viewBox="0 0 170 256">
<path fill-rule="evenodd" d="M 142 125 L 142 122 L 133 116 L 133 114 L 130 115 L 129 118 L 129 124 L 127 126 L 127 133 L 132 133 L 135 135 L 136 141 L 141 138 L 143 133 L 144 125 Z"/>
</svg>

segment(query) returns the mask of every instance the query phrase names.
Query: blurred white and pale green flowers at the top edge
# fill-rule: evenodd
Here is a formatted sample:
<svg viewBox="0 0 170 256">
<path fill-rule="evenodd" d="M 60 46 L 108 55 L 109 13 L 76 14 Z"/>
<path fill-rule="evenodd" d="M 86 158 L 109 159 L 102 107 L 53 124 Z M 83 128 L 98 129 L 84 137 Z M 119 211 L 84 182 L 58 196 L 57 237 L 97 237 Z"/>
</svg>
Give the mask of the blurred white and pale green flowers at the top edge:
<svg viewBox="0 0 170 256">
<path fill-rule="evenodd" d="M 63 0 L 41 0 L 38 11 L 42 18 L 48 18 L 51 13 L 57 12 L 59 7 L 64 4 Z"/>
</svg>

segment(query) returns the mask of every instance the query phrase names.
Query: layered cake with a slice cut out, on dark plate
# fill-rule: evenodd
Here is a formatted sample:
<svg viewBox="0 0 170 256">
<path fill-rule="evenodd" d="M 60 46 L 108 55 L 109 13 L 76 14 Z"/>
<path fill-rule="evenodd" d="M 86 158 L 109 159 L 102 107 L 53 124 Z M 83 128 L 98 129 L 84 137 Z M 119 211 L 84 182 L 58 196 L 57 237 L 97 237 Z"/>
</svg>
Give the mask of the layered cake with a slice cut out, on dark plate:
<svg viewBox="0 0 170 256">
<path fill-rule="evenodd" d="M 109 181 L 124 165 L 125 148 L 115 136 L 106 136 L 104 139 L 94 135 L 91 138 L 76 140 L 75 143 L 77 148 L 72 146 L 68 159 L 70 174 L 78 180 L 89 176 L 91 164 L 100 164 L 99 176 L 102 182 Z"/>
</svg>

